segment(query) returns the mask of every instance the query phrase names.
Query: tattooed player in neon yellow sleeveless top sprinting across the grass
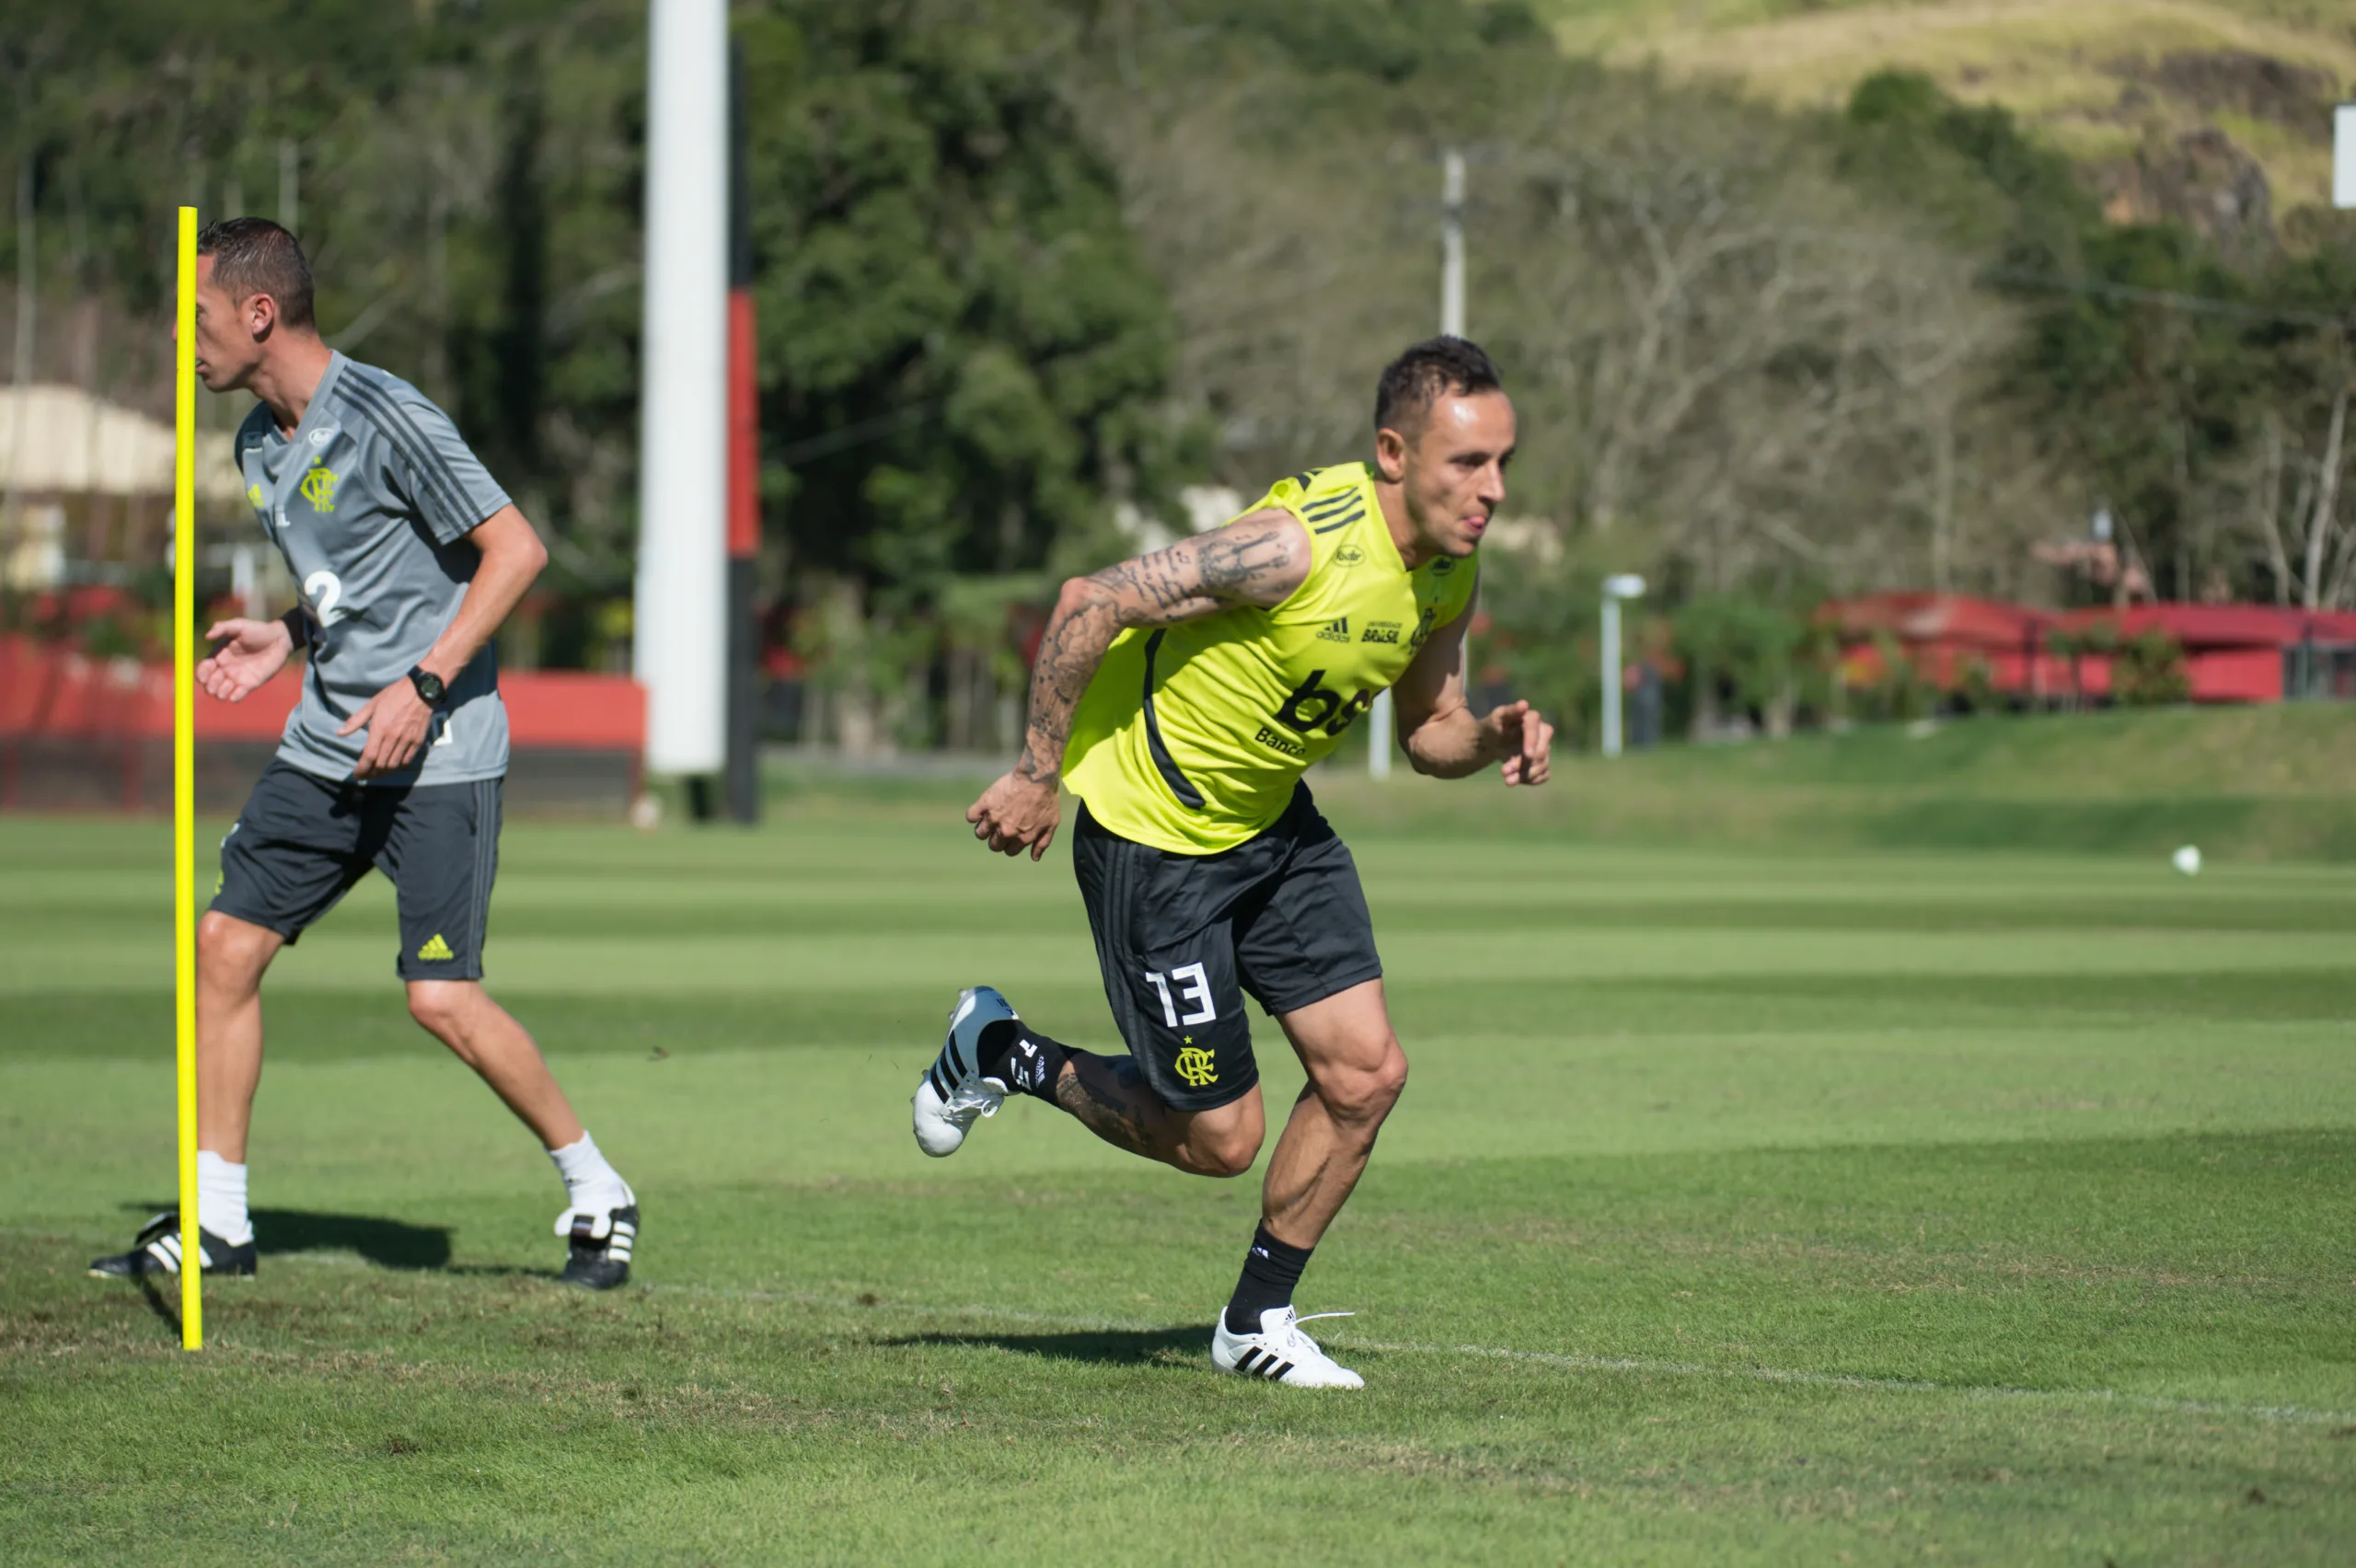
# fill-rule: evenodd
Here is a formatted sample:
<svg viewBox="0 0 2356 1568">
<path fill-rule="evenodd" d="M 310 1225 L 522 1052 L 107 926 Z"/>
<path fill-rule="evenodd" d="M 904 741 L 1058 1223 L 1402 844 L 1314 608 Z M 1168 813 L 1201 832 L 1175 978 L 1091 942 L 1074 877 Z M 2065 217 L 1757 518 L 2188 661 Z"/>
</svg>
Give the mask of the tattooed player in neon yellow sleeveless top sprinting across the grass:
<svg viewBox="0 0 2356 1568">
<path fill-rule="evenodd" d="M 1456 337 L 1416 344 L 1383 370 L 1374 424 L 1371 464 L 1293 476 L 1225 527 L 1063 586 L 1023 756 L 966 819 L 992 850 L 1039 859 L 1058 784 L 1079 796 L 1072 862 L 1131 1055 L 1060 1045 L 975 986 L 912 1104 L 933 1156 L 1027 1092 L 1133 1154 L 1242 1175 L 1265 1137 L 1253 996 L 1308 1088 L 1268 1161 L 1211 1361 L 1324 1389 L 1364 1384 L 1301 1333 L 1293 1285 L 1366 1168 L 1407 1055 L 1357 866 L 1301 775 L 1383 687 L 1416 772 L 1503 763 L 1505 784 L 1543 784 L 1555 735 L 1527 702 L 1487 718 L 1465 706 L 1472 558 L 1515 440 L 1496 365 Z"/>
</svg>

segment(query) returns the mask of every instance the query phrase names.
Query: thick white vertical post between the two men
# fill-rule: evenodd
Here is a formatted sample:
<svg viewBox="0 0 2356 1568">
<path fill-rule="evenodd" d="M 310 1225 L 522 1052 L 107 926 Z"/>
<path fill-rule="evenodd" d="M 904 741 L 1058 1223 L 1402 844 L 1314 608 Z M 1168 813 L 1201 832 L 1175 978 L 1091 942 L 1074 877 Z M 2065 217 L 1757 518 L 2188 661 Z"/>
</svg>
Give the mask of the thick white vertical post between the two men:
<svg viewBox="0 0 2356 1568">
<path fill-rule="evenodd" d="M 646 765 L 712 775 L 728 713 L 728 2 L 653 0 L 638 379 Z"/>
</svg>

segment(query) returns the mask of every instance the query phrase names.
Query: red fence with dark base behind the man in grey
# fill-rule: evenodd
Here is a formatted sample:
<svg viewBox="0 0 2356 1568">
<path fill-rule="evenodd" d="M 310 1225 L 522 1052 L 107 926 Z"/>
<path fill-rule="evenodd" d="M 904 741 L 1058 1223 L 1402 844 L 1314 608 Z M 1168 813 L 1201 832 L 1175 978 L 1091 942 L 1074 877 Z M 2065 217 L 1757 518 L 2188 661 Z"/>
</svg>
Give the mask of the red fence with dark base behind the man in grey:
<svg viewBox="0 0 2356 1568">
<path fill-rule="evenodd" d="M 615 810 L 641 784 L 646 690 L 627 676 L 499 676 L 525 810 Z M 196 695 L 198 800 L 236 805 L 302 697 L 290 666 L 245 702 Z M 163 810 L 172 803 L 172 669 L 0 636 L 0 808 Z"/>
</svg>

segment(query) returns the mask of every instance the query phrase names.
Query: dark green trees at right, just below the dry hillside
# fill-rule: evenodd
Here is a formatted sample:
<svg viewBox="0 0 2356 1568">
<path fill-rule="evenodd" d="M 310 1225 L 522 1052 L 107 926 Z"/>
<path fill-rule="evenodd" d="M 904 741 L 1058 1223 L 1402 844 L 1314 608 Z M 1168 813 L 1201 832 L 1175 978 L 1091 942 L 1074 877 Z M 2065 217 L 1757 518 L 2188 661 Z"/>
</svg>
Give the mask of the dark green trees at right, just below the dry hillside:
<svg viewBox="0 0 2356 1568">
<path fill-rule="evenodd" d="M 2104 224 L 2069 160 L 1930 78 L 1871 75 L 1842 120 L 1849 177 L 1979 250 L 1988 285 L 2019 304 L 2019 414 L 2085 501 L 2111 506 L 2156 589 L 2193 598 L 2222 570 L 2243 596 L 2290 598 L 2295 584 L 2278 567 L 2259 577 L 2262 551 L 2233 549 L 2212 518 L 2255 513 L 2290 539 L 2307 530 L 2281 445 L 2309 461 L 2325 447 L 2349 374 L 2356 224 L 2292 214 L 2297 247 L 2229 261 L 2182 226 Z M 2297 584 L 2318 603 L 2335 586 L 2347 596 L 2356 579 Z"/>
</svg>

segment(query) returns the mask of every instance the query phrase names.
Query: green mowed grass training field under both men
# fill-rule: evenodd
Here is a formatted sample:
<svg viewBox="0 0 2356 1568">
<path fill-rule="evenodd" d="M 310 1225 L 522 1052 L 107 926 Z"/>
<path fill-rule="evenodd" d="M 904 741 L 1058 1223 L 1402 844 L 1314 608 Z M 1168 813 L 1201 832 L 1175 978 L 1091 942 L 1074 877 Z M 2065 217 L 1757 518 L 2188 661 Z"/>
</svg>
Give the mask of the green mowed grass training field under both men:
<svg viewBox="0 0 2356 1568">
<path fill-rule="evenodd" d="M 914 1151 L 959 984 L 1110 1045 L 1063 852 L 945 789 L 509 831 L 495 989 L 646 1208 L 613 1297 L 365 885 L 271 977 L 262 1276 L 184 1356 L 82 1276 L 172 1189 L 167 833 L 0 819 L 0 1556 L 2347 1561 L 2347 871 L 1336 800 L 1416 1062 L 1301 1297 L 1355 1396 L 1206 1370 L 1253 1180 L 1030 1102 Z"/>
</svg>

